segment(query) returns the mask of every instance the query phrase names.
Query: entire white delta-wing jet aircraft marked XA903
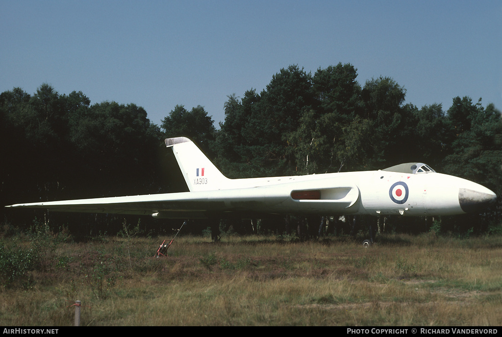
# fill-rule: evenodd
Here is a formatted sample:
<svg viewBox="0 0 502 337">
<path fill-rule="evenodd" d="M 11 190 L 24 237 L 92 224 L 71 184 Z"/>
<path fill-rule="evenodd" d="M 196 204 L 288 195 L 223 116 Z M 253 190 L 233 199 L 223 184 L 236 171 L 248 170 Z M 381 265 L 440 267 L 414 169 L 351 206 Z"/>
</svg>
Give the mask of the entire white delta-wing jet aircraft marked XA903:
<svg viewBox="0 0 502 337">
<path fill-rule="evenodd" d="M 186 137 L 168 138 L 190 192 L 17 204 L 61 212 L 152 215 L 154 218 L 257 219 L 270 215 L 455 215 L 495 203 L 471 181 L 424 163 L 379 171 L 228 179 Z"/>
</svg>

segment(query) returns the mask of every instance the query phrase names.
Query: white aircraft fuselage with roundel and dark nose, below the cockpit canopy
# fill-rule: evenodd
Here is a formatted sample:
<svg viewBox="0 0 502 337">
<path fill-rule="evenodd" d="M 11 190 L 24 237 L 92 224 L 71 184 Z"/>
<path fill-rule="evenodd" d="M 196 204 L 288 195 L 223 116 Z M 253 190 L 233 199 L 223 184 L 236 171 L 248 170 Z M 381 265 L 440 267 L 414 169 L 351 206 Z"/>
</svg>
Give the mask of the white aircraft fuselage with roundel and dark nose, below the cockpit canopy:
<svg viewBox="0 0 502 337">
<path fill-rule="evenodd" d="M 206 178 L 210 179 L 210 178 Z M 489 206 L 495 195 L 465 179 L 386 171 L 232 180 L 221 211 L 270 214 L 454 215 Z M 223 205 L 222 205 L 223 206 Z M 219 211 L 218 207 L 212 211 Z"/>
</svg>

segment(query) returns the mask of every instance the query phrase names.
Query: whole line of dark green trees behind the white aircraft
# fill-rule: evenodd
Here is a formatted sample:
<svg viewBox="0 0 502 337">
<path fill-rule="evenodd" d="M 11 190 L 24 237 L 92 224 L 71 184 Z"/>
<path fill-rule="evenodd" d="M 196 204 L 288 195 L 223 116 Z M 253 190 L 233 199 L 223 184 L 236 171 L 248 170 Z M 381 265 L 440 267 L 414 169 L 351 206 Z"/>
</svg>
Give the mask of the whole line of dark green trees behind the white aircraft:
<svg viewBox="0 0 502 337">
<path fill-rule="evenodd" d="M 314 74 L 291 65 L 260 93 L 251 88 L 241 97 L 229 95 L 218 129 L 200 105 L 191 110 L 177 105 L 158 126 L 142 107 L 113 101 L 91 105 L 80 91 L 59 94 L 48 84 L 33 95 L 21 88 L 5 91 L 0 94 L 0 198 L 9 205 L 184 191 L 163 139 L 187 136 L 229 178 L 378 170 L 419 161 L 482 184 L 500 200 L 502 119 L 493 104 L 454 97 L 447 110 L 436 103 L 418 108 L 405 104 L 406 89 L 390 77 L 363 86 L 356 78 L 351 64 Z M 2 212 L 14 222 L 48 216 Z M 480 215 L 443 220 L 443 229 L 499 227 L 497 207 L 483 216 L 482 221 Z M 50 217 L 53 224 L 78 223 L 94 233 L 113 231 L 110 224 L 123 220 Z M 162 226 L 141 221 L 151 229 Z"/>
</svg>

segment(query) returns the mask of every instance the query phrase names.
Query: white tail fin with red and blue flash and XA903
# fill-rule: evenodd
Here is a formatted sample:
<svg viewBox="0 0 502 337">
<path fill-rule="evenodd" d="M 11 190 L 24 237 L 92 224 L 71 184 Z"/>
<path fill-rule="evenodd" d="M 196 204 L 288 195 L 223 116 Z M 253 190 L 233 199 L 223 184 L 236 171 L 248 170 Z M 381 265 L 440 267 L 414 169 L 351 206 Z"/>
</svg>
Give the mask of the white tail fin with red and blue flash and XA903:
<svg viewBox="0 0 502 337">
<path fill-rule="evenodd" d="M 172 147 L 181 173 L 190 192 L 225 190 L 230 179 L 214 166 L 209 158 L 186 137 L 167 138 L 167 147 Z"/>
</svg>

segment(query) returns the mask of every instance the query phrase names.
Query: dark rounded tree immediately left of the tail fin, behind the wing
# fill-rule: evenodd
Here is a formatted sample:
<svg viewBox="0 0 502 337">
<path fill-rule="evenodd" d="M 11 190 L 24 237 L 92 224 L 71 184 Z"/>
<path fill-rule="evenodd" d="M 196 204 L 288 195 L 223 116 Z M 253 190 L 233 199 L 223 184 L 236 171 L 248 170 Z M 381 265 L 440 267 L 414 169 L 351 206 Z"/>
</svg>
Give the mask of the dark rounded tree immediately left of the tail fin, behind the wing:
<svg viewBox="0 0 502 337">
<path fill-rule="evenodd" d="M 80 193 L 97 194 L 99 190 L 101 196 L 113 196 L 156 192 L 157 148 L 162 140 L 144 108 L 116 102 L 94 104 L 77 109 L 70 129 L 79 163 L 72 181 L 77 177 L 81 182 L 94 181 L 80 186 Z"/>
</svg>

